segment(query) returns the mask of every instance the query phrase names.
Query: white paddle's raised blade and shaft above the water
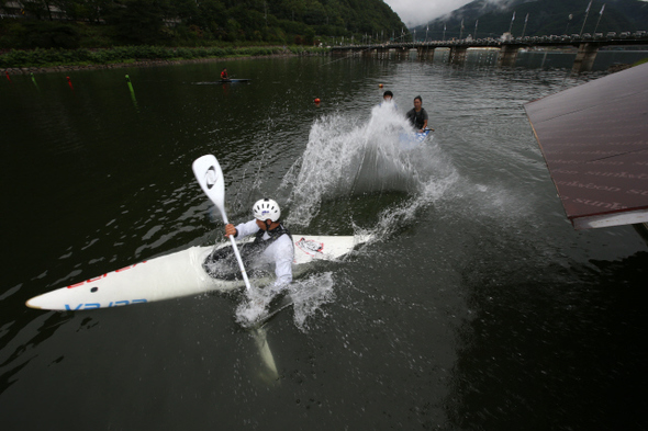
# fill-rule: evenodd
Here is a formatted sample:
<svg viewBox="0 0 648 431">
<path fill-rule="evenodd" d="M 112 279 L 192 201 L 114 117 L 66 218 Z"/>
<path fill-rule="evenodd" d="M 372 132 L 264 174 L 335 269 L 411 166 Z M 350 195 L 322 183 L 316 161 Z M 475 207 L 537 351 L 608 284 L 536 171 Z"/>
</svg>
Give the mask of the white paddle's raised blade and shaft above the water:
<svg viewBox="0 0 648 431">
<path fill-rule="evenodd" d="M 227 214 L 225 213 L 225 181 L 223 179 L 223 171 L 221 170 L 219 160 L 212 155 L 205 155 L 195 159 L 191 167 L 193 168 L 193 174 L 202 191 L 221 212 L 223 223 L 225 225 L 230 224 L 230 222 L 227 222 Z M 252 287 L 249 286 L 249 280 L 247 280 L 247 273 L 245 272 L 238 247 L 236 247 L 236 240 L 232 235 L 230 236 L 230 240 L 232 241 L 232 248 L 234 249 L 234 254 L 238 261 L 238 268 L 241 268 L 241 273 L 245 281 L 245 288 L 247 290 L 247 293 L 250 293 Z"/>
</svg>

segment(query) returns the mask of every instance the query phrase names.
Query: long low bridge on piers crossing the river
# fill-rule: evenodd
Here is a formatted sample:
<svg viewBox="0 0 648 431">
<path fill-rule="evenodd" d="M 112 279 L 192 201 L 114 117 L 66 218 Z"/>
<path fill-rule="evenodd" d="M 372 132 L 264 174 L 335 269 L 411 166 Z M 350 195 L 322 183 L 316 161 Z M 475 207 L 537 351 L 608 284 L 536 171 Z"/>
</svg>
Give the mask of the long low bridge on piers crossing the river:
<svg viewBox="0 0 648 431">
<path fill-rule="evenodd" d="M 646 46 L 648 47 L 648 33 L 623 32 L 618 35 L 616 33 L 608 33 L 603 35 L 596 33 L 594 36 L 590 34 L 573 34 L 571 36 L 527 36 L 527 37 L 503 37 L 483 38 L 483 39 L 453 39 L 453 41 L 431 41 L 431 42 L 402 42 L 402 43 L 386 43 L 386 44 L 364 44 L 364 45 L 345 45 L 333 46 L 331 50 L 333 54 L 361 55 L 372 54 L 389 54 L 394 52 L 398 55 L 409 55 L 410 50 L 415 49 L 420 58 L 433 59 L 434 52 L 437 48 L 450 49 L 449 61 L 453 64 L 462 64 L 466 60 L 469 48 L 494 48 L 500 50 L 498 56 L 498 65 L 510 67 L 515 65 L 519 49 L 535 48 L 535 47 L 554 47 L 566 48 L 577 47 L 577 56 L 573 61 L 572 70 L 574 72 L 584 72 L 592 70 L 592 65 L 596 58 L 599 49 L 604 46 Z"/>
</svg>

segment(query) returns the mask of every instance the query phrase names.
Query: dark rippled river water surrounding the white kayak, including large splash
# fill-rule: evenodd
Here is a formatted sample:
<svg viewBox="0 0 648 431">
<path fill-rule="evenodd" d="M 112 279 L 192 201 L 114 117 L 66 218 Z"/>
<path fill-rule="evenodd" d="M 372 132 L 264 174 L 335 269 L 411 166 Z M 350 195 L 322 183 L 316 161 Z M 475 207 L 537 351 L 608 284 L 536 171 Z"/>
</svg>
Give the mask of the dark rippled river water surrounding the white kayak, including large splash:
<svg viewBox="0 0 648 431">
<path fill-rule="evenodd" d="M 648 247 L 632 227 L 573 230 L 523 109 L 606 66 L 549 57 L 3 77 L 2 429 L 646 429 Z M 253 81 L 210 83 L 223 67 Z M 404 150 L 418 94 L 434 138 Z M 305 299 L 261 330 L 237 324 L 241 293 L 24 306 L 222 240 L 191 172 L 203 154 L 231 220 L 268 195 L 293 232 L 373 240 L 300 274 Z"/>
</svg>

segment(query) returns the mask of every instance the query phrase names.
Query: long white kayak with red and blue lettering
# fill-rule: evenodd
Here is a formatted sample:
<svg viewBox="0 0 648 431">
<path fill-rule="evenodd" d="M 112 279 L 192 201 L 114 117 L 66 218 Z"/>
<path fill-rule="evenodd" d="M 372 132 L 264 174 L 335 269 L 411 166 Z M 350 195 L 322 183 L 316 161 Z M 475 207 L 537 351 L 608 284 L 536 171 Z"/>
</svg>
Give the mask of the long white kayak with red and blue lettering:
<svg viewBox="0 0 648 431">
<path fill-rule="evenodd" d="M 295 265 L 314 260 L 336 260 L 369 239 L 368 236 L 306 235 L 292 238 L 293 271 Z M 35 296 L 26 306 L 55 310 L 110 308 L 244 286 L 243 281 L 213 279 L 204 271 L 202 263 L 212 250 L 213 247 L 191 247 L 161 256 Z M 264 280 L 258 285 L 267 283 Z"/>
</svg>

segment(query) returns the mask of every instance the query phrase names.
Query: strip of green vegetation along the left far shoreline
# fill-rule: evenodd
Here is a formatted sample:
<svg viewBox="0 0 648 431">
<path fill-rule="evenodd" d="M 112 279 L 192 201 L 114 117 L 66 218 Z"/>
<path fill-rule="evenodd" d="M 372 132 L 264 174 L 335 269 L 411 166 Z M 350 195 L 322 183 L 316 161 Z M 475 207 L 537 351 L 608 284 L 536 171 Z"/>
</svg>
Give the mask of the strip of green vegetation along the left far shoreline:
<svg viewBox="0 0 648 431">
<path fill-rule="evenodd" d="M 177 47 L 121 46 L 100 49 L 10 50 L 0 55 L 0 70 L 37 73 L 63 70 L 146 67 L 155 65 L 214 61 L 226 58 L 324 55 L 328 48 L 304 46 Z"/>
</svg>

